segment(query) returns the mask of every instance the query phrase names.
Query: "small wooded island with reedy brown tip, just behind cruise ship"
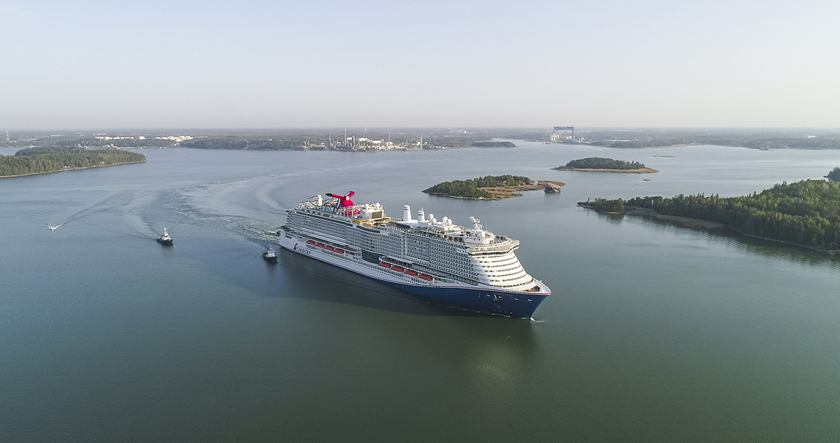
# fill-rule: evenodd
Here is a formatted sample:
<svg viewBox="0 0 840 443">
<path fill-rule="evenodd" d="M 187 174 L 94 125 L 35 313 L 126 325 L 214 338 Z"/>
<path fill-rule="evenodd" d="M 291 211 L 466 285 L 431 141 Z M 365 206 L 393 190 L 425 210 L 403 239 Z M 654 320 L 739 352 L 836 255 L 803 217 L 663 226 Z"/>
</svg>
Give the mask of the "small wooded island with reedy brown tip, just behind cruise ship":
<svg viewBox="0 0 840 443">
<path fill-rule="evenodd" d="M 487 175 L 471 180 L 438 183 L 423 192 L 466 200 L 501 200 L 522 196 L 517 191 L 545 190 L 547 193 L 556 193 L 562 185 L 564 183 L 549 180 L 535 183 L 534 180 L 521 175 Z"/>
</svg>

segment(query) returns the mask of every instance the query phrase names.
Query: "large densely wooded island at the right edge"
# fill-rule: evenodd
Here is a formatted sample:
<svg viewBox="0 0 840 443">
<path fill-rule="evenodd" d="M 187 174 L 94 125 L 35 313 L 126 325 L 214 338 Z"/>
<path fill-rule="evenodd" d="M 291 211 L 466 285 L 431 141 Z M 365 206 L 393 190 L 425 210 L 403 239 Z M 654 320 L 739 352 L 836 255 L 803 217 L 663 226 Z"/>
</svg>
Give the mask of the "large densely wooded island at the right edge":
<svg viewBox="0 0 840 443">
<path fill-rule="evenodd" d="M 840 183 L 802 180 L 759 194 L 722 198 L 677 195 L 581 201 L 597 211 L 691 217 L 722 223 L 743 234 L 840 253 Z"/>
</svg>

